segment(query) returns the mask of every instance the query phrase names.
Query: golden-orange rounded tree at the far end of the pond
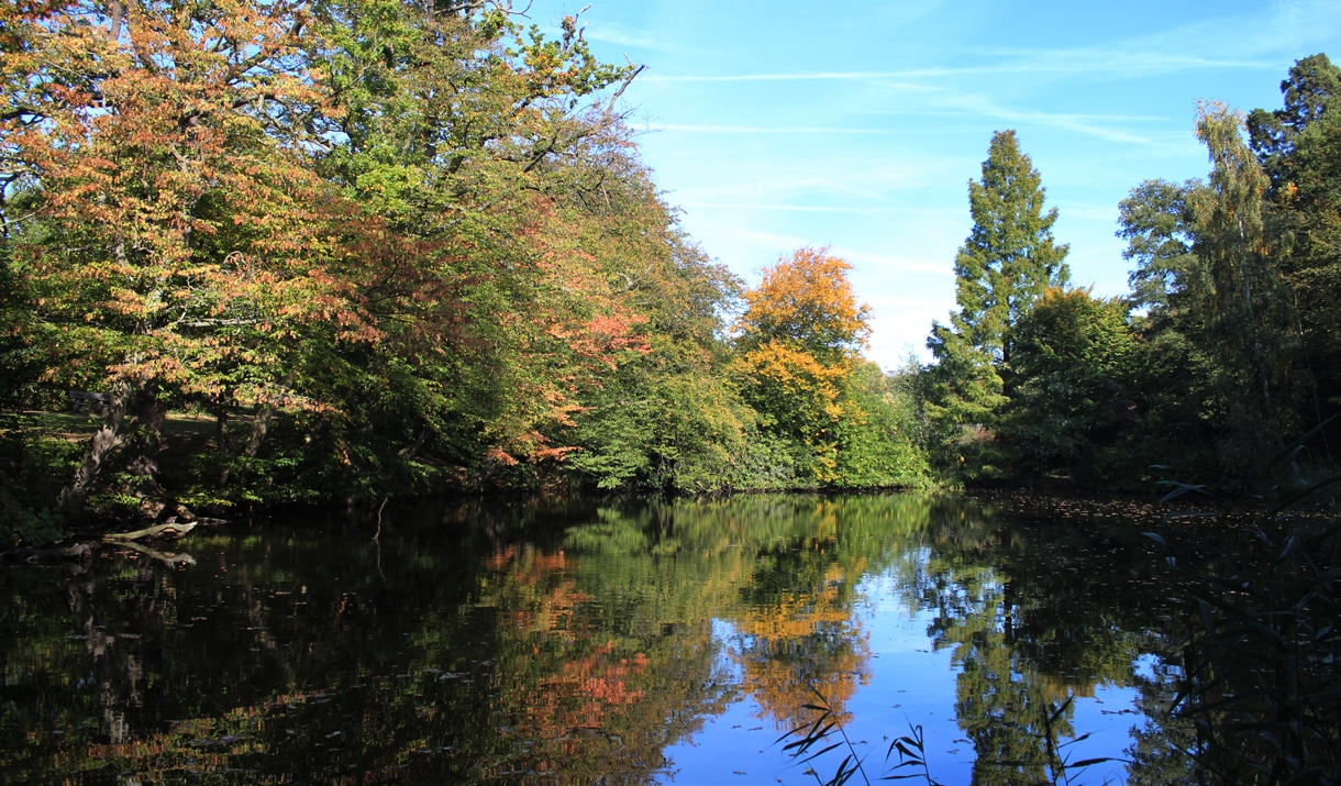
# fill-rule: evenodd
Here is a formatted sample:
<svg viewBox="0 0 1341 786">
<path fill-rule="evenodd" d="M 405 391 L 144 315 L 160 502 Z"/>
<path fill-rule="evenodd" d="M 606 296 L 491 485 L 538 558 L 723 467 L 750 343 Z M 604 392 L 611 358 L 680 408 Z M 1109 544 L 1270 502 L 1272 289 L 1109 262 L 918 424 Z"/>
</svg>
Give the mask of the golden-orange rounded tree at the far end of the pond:
<svg viewBox="0 0 1341 786">
<path fill-rule="evenodd" d="M 862 417 L 845 386 L 866 345 L 869 310 L 849 270 L 827 248 L 799 248 L 763 271 L 736 322 L 742 394 L 793 445 L 799 475 L 819 483 L 837 479 L 835 427 Z"/>
</svg>

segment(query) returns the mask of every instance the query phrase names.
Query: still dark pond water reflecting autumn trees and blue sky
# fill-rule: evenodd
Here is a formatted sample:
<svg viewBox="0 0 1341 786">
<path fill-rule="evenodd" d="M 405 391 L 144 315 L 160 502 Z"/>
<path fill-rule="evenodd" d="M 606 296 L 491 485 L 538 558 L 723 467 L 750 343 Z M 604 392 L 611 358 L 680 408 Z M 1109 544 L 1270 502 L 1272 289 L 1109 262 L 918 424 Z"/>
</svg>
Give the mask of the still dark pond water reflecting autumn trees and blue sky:
<svg viewBox="0 0 1341 786">
<path fill-rule="evenodd" d="M 1176 575 L 1121 508 L 995 508 L 455 503 L 0 569 L 0 781 L 813 783 L 818 693 L 870 782 L 919 726 L 945 785 L 1176 782 Z"/>
</svg>

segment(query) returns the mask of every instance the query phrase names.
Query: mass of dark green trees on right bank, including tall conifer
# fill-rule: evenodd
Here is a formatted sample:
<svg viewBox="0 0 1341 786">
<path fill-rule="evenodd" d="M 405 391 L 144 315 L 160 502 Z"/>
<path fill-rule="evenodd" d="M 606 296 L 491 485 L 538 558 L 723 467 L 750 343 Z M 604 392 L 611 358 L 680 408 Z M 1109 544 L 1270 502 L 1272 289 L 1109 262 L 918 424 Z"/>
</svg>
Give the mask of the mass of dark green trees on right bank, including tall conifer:
<svg viewBox="0 0 1341 786">
<path fill-rule="evenodd" d="M 1037 315 L 1041 287 L 1057 280 L 1046 266 L 1008 264 L 1027 259 L 1019 239 L 1031 229 L 1053 248 L 1055 212 L 1041 213 L 1037 173 L 1014 138 L 998 134 L 971 189 L 975 229 L 956 259 L 960 310 L 933 326 L 936 363 L 916 380 L 937 463 L 968 482 L 1053 476 L 1137 488 L 1159 465 L 1202 482 L 1270 484 L 1266 457 L 1341 410 L 1338 86 L 1341 70 L 1314 55 L 1282 83 L 1281 110 L 1244 118 L 1203 105 L 1207 178 L 1145 181 L 1118 205 L 1130 295 L 1100 303 L 1058 294 Z M 1012 224 L 1019 215 L 1034 221 Z M 994 243 L 1007 260 L 996 267 Z M 1318 448 L 1333 460 L 1328 435 Z"/>
</svg>

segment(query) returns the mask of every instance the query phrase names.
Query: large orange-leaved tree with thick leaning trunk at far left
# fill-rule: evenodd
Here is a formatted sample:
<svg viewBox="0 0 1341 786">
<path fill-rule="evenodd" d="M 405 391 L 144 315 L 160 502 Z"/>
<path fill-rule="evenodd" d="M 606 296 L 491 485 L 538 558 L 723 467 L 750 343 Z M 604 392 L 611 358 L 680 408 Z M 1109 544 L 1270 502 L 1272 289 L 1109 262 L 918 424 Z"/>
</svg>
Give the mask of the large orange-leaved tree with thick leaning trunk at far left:
<svg viewBox="0 0 1341 786">
<path fill-rule="evenodd" d="M 44 380 L 103 389 L 110 414 L 64 494 L 114 455 L 158 503 L 166 408 L 315 405 L 284 380 L 296 326 L 373 338 L 345 283 L 339 194 L 306 165 L 327 111 L 299 47 L 302 3 L 8 4 L 0 149 L 12 262 Z"/>
</svg>

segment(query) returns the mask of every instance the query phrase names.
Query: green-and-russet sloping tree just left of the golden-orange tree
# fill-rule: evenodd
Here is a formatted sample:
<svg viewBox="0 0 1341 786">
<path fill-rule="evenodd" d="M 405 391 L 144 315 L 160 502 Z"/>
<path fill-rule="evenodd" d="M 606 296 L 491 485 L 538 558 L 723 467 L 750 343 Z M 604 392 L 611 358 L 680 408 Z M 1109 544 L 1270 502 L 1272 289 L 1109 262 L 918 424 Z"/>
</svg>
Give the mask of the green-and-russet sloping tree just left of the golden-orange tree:
<svg viewBox="0 0 1341 786">
<path fill-rule="evenodd" d="M 575 425 L 557 437 L 579 448 L 566 463 L 598 488 L 754 486 L 756 417 L 725 380 L 721 337 L 743 284 L 675 223 L 641 165 L 611 161 L 609 172 L 569 211 L 611 296 L 646 319 L 645 343 L 583 386 Z"/>
</svg>

